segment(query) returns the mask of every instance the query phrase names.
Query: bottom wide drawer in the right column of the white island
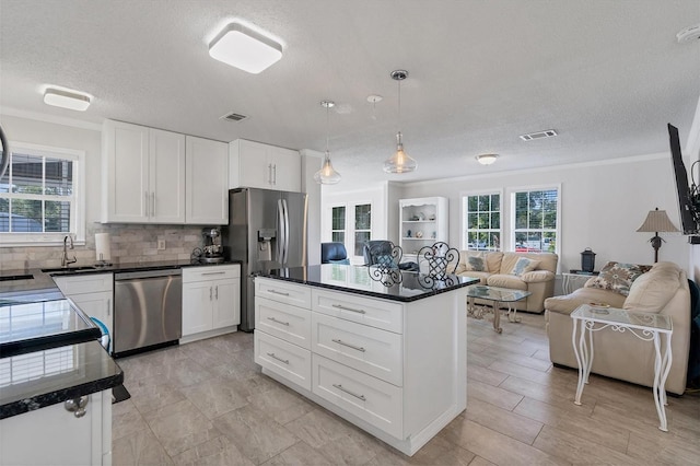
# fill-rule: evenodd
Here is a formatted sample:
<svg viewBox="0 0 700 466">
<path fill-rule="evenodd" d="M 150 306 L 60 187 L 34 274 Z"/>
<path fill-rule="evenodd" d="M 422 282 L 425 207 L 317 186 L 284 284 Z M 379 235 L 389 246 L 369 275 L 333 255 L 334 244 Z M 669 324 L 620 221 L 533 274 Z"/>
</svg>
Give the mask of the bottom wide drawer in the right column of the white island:
<svg viewBox="0 0 700 466">
<path fill-rule="evenodd" d="M 402 389 L 313 354 L 313 393 L 370 424 L 404 438 Z"/>
</svg>

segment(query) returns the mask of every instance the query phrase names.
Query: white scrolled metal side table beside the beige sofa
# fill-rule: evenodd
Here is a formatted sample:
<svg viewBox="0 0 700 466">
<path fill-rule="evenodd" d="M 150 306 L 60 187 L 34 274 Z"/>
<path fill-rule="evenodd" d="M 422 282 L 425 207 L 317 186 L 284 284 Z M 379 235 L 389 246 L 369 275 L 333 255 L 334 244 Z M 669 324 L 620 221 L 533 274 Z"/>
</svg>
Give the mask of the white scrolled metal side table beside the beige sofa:
<svg viewBox="0 0 700 466">
<path fill-rule="evenodd" d="M 581 405 L 583 387 L 588 383 L 588 375 L 593 365 L 593 333 L 605 328 L 621 334 L 629 330 L 640 340 L 653 341 L 656 358 L 654 359 L 654 403 L 658 421 L 658 429 L 668 432 L 666 423 L 666 377 L 670 371 L 673 354 L 670 351 L 670 337 L 674 325 L 669 316 L 645 312 L 626 311 L 615 307 L 595 307 L 588 304 L 580 305 L 571 313 L 573 331 L 571 343 L 579 363 L 579 384 L 576 386 L 575 405 Z M 581 321 L 581 335 L 576 345 L 576 327 Z M 587 334 L 587 338 L 586 338 Z M 666 336 L 666 345 L 662 349 L 661 336 Z M 587 340 L 587 341 L 586 341 Z"/>
</svg>

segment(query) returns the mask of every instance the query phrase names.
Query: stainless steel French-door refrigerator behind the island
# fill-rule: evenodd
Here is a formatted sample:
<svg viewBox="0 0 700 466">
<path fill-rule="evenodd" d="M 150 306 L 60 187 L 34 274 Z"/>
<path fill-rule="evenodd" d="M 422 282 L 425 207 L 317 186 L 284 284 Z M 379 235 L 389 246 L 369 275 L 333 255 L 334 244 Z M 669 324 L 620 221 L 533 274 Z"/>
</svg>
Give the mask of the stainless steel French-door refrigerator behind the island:
<svg viewBox="0 0 700 466">
<path fill-rule="evenodd" d="M 306 265 L 307 198 L 304 193 L 236 188 L 229 191 L 224 256 L 241 260 L 241 325 L 255 328 L 255 277 Z"/>
</svg>

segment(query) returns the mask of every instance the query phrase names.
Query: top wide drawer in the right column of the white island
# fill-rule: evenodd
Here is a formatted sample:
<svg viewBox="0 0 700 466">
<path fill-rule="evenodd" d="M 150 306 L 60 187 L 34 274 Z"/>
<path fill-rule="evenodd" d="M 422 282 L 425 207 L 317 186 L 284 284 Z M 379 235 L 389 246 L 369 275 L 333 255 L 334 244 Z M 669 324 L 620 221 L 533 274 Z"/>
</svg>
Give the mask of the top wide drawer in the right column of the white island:
<svg viewBox="0 0 700 466">
<path fill-rule="evenodd" d="M 314 289 L 312 310 L 397 334 L 404 330 L 404 306 L 386 300 Z"/>
</svg>

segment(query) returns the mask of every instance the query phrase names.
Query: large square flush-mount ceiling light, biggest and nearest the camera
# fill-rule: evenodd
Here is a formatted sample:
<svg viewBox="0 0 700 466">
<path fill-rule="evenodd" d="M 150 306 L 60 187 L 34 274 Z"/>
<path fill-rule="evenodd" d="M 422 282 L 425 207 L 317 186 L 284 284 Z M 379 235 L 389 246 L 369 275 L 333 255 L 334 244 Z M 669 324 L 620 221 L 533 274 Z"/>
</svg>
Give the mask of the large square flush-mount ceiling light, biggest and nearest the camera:
<svg viewBox="0 0 700 466">
<path fill-rule="evenodd" d="M 231 23 L 209 44 L 209 55 L 257 74 L 282 58 L 282 46 L 243 24 Z"/>
</svg>

